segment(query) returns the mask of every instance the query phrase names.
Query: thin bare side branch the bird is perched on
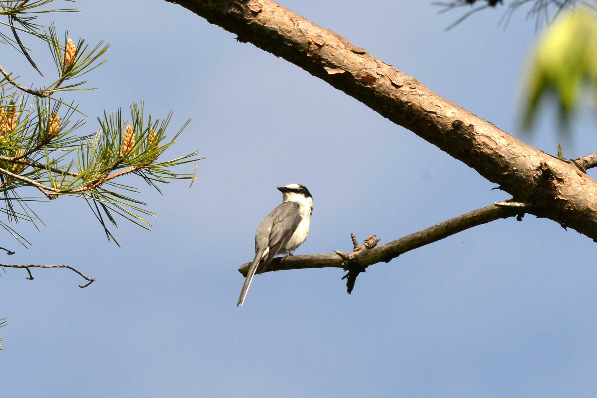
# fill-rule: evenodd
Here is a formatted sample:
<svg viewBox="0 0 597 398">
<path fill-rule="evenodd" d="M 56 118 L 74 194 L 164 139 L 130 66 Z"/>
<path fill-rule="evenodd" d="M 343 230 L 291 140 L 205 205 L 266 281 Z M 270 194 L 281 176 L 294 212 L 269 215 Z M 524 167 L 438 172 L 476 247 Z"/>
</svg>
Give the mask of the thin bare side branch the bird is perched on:
<svg viewBox="0 0 597 398">
<path fill-rule="evenodd" d="M 462 232 L 465 229 L 490 223 L 491 221 L 499 220 L 500 218 L 513 216 L 516 216 L 520 221 L 522 215 L 528 211 L 526 207 L 503 206 L 500 205 L 501 203 L 504 202 L 470 211 L 466 214 L 444 221 L 443 223 L 420 230 L 419 232 L 411 233 L 411 235 L 392 240 L 392 242 L 377 246 L 373 249 L 359 248 L 355 252 L 350 253 L 350 266 L 366 269 L 368 266 L 380 263 L 381 261 L 388 263 L 393 258 L 396 258 L 407 251 L 420 248 L 424 245 L 429 245 L 429 243 L 444 239 L 445 237 Z M 509 201 L 506 200 L 505 203 L 509 203 Z M 276 257 L 273 259 L 272 263 L 269 264 L 269 267 L 267 267 L 265 272 L 306 268 L 346 268 L 345 260 L 346 259 L 341 255 L 331 253 Z M 242 276 L 246 277 L 250 266 L 251 263 L 242 264 L 238 271 Z"/>
</svg>

